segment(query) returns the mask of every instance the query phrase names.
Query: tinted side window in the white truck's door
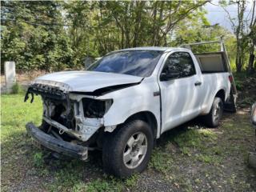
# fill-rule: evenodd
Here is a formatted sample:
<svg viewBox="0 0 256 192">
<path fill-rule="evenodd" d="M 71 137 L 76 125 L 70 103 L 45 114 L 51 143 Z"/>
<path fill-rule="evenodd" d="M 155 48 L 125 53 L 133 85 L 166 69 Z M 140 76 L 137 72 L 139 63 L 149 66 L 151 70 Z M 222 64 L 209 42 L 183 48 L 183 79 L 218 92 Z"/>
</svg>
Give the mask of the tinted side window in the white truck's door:
<svg viewBox="0 0 256 192">
<path fill-rule="evenodd" d="M 185 78 L 195 74 L 194 62 L 189 53 L 175 52 L 166 59 L 162 73 L 174 74 L 175 78 Z"/>
</svg>

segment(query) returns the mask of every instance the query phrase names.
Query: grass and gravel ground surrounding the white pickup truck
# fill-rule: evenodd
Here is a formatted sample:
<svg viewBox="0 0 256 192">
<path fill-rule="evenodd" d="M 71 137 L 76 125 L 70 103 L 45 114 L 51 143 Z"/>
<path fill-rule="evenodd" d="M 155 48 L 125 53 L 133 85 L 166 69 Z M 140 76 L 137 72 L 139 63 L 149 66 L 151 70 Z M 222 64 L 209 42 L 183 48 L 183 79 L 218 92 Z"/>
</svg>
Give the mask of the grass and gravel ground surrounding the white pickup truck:
<svg viewBox="0 0 256 192">
<path fill-rule="evenodd" d="M 26 122 L 40 123 L 42 103 L 23 103 L 23 95 L 2 95 L 2 191 L 255 191 L 256 170 L 247 165 L 255 150 L 250 104 L 256 87 L 239 88 L 236 114 L 221 126 L 205 127 L 200 118 L 162 135 L 149 167 L 128 179 L 104 174 L 101 153 L 88 162 L 57 159 L 26 135 Z"/>
</svg>

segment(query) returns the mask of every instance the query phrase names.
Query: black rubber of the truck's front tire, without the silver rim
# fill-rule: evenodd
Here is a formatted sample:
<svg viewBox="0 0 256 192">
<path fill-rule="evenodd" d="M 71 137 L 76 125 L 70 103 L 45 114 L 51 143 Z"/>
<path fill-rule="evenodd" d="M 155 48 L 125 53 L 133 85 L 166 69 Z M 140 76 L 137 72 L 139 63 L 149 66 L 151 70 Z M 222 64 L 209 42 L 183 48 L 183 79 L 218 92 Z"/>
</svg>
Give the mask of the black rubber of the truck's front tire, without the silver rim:
<svg viewBox="0 0 256 192">
<path fill-rule="evenodd" d="M 135 134 L 142 133 L 146 136 L 146 152 L 137 167 L 128 168 L 125 164 L 124 153 L 127 142 Z M 143 144 L 145 145 L 145 144 Z M 142 120 L 133 120 L 123 124 L 114 130 L 114 133 L 106 135 L 104 145 L 102 147 L 102 162 L 106 173 L 114 174 L 120 178 L 126 178 L 134 173 L 142 172 L 146 169 L 150 161 L 150 155 L 154 146 L 154 138 L 150 126 Z"/>
</svg>

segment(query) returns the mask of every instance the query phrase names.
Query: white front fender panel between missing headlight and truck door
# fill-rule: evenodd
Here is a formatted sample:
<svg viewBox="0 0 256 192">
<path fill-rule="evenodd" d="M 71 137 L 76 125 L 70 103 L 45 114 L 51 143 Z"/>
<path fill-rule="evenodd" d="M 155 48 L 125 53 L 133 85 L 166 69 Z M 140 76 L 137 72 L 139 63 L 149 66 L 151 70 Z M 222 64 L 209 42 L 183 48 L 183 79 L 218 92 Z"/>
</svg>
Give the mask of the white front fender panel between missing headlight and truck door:
<svg viewBox="0 0 256 192">
<path fill-rule="evenodd" d="M 104 125 L 118 125 L 133 114 L 149 111 L 154 114 L 160 127 L 160 99 L 159 95 L 154 96 L 154 92 L 158 91 L 158 82 L 154 77 L 150 77 L 145 78 L 138 86 L 130 86 L 98 97 L 98 99 L 114 98 L 110 110 L 104 115 Z M 159 136 L 160 129 L 158 129 Z"/>
</svg>

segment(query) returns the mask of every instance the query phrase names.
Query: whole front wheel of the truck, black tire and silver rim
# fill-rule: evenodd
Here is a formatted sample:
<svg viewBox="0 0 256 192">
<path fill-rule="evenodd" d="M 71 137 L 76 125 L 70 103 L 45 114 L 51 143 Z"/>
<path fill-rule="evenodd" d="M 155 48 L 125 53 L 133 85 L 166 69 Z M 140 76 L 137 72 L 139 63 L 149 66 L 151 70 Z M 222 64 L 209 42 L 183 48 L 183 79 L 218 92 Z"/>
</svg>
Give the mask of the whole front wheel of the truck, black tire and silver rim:
<svg viewBox="0 0 256 192">
<path fill-rule="evenodd" d="M 133 120 L 106 135 L 102 149 L 104 170 L 126 178 L 146 169 L 154 146 L 150 126 L 142 120 Z"/>
</svg>

